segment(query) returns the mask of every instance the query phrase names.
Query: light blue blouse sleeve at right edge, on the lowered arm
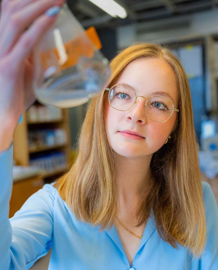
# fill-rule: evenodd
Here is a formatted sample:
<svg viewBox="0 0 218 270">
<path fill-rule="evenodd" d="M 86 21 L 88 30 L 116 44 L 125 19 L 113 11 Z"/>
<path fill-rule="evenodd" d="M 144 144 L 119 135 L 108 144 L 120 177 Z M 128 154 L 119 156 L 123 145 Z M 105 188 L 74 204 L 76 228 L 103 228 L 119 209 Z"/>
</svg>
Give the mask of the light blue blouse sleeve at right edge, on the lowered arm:
<svg viewBox="0 0 218 270">
<path fill-rule="evenodd" d="M 218 207 L 210 184 L 202 182 L 207 241 L 199 261 L 199 270 L 218 269 Z"/>
</svg>

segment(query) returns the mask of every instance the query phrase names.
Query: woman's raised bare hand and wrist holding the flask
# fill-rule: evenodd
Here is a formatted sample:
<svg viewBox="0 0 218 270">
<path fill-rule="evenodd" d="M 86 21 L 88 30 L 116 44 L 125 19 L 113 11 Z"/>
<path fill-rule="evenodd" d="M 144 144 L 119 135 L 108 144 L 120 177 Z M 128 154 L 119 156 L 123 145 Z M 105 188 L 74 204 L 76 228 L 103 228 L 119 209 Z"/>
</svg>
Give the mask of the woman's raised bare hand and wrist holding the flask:
<svg viewBox="0 0 218 270">
<path fill-rule="evenodd" d="M 9 147 L 20 115 L 34 101 L 32 51 L 64 0 L 2 0 L 0 15 L 0 152 Z M 7 131 L 7 134 L 5 132 Z"/>
</svg>

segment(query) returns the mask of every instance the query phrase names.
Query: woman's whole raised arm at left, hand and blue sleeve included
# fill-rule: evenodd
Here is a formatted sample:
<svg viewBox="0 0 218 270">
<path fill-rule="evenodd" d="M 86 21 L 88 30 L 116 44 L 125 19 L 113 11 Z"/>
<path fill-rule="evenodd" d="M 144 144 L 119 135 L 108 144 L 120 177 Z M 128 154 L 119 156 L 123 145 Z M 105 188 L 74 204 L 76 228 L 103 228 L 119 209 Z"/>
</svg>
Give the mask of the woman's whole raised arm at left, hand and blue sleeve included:
<svg viewBox="0 0 218 270">
<path fill-rule="evenodd" d="M 0 16 L 0 269 L 29 269 L 51 247 L 55 189 L 32 195 L 8 219 L 13 133 L 35 100 L 32 51 L 64 0 L 3 0 Z M 51 9 L 52 8 L 52 9 Z M 49 10 L 49 11 L 48 11 Z"/>
</svg>

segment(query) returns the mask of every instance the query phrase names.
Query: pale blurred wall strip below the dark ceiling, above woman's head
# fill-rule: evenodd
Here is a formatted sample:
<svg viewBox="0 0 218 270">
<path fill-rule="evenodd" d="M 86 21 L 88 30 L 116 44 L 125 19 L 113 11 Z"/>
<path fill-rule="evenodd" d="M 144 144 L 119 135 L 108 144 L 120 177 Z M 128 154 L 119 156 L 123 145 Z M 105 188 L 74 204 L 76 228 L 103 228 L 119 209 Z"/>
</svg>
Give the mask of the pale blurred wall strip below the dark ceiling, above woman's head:
<svg viewBox="0 0 218 270">
<path fill-rule="evenodd" d="M 156 27 L 157 30 L 155 30 Z M 153 32 L 150 31 L 151 28 L 154 29 Z M 120 26 L 117 28 L 117 46 L 118 49 L 123 49 L 135 41 L 163 43 L 214 33 L 218 33 L 217 8 L 170 19 Z"/>
</svg>

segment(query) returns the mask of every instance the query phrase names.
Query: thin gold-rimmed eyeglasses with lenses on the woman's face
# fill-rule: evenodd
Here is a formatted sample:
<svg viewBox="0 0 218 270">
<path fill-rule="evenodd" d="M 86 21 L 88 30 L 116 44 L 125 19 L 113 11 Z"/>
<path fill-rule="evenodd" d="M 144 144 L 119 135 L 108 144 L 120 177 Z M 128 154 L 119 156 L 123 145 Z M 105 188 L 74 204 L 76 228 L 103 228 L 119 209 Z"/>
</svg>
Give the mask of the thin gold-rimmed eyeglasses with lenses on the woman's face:
<svg viewBox="0 0 218 270">
<path fill-rule="evenodd" d="M 111 88 L 105 88 L 109 91 L 108 101 L 112 108 L 119 111 L 127 111 L 136 104 L 136 92 L 134 89 L 122 85 L 116 84 Z M 149 99 L 146 99 L 144 103 L 144 109 L 146 111 L 147 117 L 155 122 L 166 122 L 170 116 L 173 114 L 173 111 L 179 112 L 178 109 L 174 108 L 173 102 L 170 99 L 159 96 L 152 96 Z"/>
</svg>

